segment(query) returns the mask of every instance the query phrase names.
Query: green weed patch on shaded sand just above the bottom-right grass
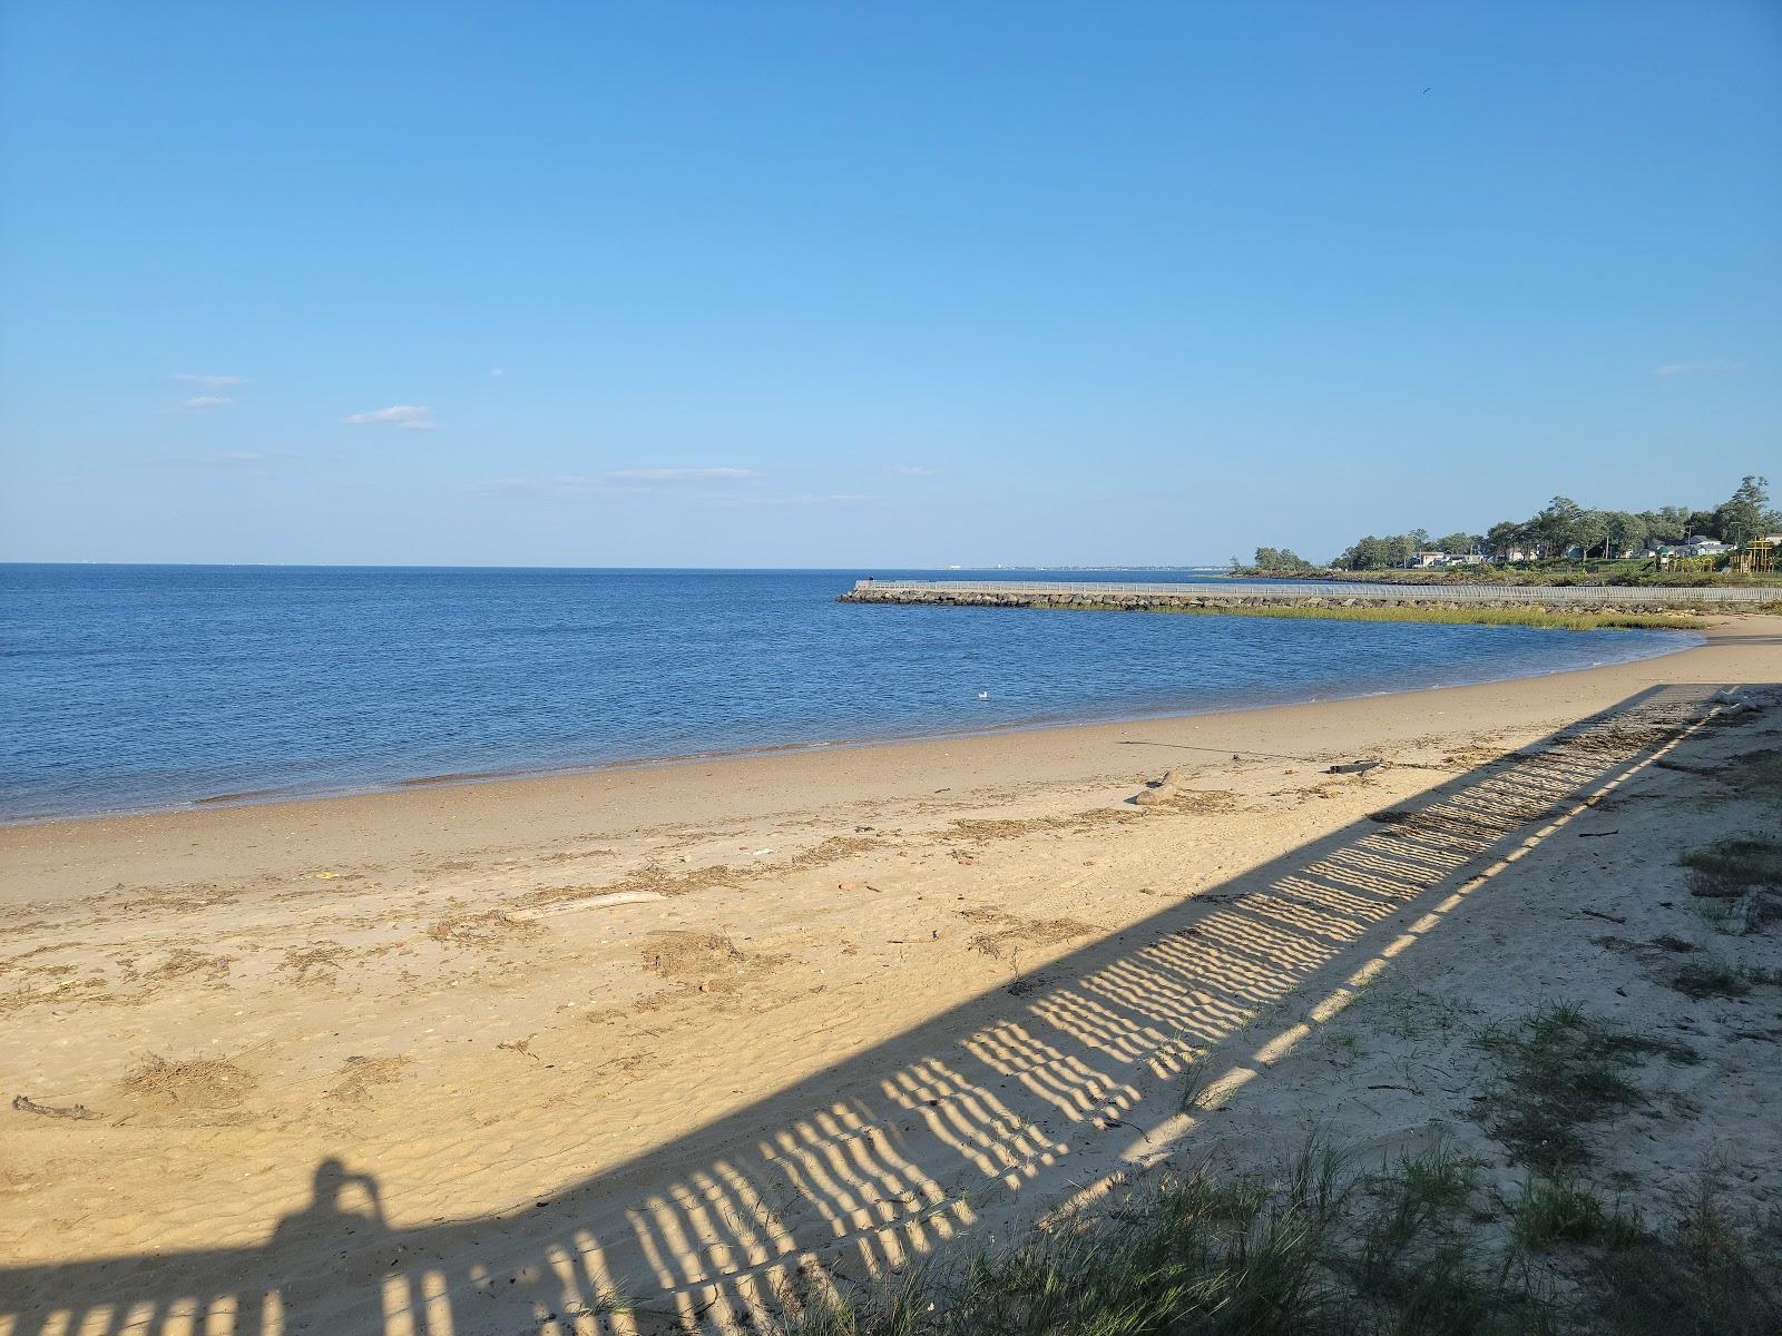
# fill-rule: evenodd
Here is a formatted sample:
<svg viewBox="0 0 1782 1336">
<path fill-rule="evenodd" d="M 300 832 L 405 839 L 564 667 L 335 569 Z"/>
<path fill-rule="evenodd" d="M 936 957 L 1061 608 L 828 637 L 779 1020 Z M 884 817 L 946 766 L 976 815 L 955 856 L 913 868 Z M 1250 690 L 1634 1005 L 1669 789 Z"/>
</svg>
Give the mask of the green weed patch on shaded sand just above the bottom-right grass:
<svg viewBox="0 0 1782 1336">
<path fill-rule="evenodd" d="M 1574 1005 L 1540 1006 L 1515 1024 L 1486 1028 L 1477 1044 L 1495 1069 L 1479 1099 L 1481 1122 L 1547 1177 L 1590 1160 L 1584 1128 L 1645 1103 L 1627 1078 L 1634 1067 L 1652 1056 L 1698 1060 L 1686 1044 L 1629 1035 Z"/>
</svg>

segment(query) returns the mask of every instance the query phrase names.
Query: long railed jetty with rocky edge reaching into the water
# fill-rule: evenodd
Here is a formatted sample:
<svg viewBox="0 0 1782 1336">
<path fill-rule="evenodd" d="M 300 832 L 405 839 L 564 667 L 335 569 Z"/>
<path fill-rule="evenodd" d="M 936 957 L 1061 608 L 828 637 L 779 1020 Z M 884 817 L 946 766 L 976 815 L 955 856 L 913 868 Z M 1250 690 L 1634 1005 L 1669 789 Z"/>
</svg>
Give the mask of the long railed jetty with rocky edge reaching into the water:
<svg viewBox="0 0 1782 1336">
<path fill-rule="evenodd" d="M 941 604 L 948 607 L 1080 607 L 1167 613 L 1185 607 L 1549 607 L 1670 611 L 1739 607 L 1782 600 L 1782 590 L 1748 586 L 1634 584 L 1372 584 L 1361 581 L 855 581 L 845 604 Z"/>
</svg>

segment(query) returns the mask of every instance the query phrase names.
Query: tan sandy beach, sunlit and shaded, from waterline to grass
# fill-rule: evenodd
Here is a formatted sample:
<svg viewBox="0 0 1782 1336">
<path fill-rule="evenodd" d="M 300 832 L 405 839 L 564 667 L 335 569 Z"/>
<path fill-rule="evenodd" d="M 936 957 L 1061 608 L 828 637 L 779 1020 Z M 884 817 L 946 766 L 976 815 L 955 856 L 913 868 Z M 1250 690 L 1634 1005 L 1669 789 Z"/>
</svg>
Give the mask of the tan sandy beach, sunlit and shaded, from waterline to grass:
<svg viewBox="0 0 1782 1336">
<path fill-rule="evenodd" d="M 1470 1035 L 1541 998 L 1704 1055 L 1622 1126 L 1629 1192 L 1714 1151 L 1782 1204 L 1782 996 L 1691 1001 L 1652 946 L 1778 964 L 1675 868 L 1782 823 L 1723 782 L 1778 684 L 1739 618 L 1492 686 L 0 830 L 0 1336 L 747 1325 L 1312 1120 L 1509 1183 Z"/>
</svg>

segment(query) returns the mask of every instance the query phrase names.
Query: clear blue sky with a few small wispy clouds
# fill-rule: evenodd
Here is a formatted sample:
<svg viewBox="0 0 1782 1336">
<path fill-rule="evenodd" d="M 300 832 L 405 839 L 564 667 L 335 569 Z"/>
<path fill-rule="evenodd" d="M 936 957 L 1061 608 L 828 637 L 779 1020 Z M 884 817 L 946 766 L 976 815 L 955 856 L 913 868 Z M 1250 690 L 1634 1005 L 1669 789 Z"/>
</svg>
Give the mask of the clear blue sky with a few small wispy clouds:
<svg viewBox="0 0 1782 1336">
<path fill-rule="evenodd" d="M 1326 558 L 1782 486 L 1773 0 L 0 14 L 0 559 Z"/>
</svg>

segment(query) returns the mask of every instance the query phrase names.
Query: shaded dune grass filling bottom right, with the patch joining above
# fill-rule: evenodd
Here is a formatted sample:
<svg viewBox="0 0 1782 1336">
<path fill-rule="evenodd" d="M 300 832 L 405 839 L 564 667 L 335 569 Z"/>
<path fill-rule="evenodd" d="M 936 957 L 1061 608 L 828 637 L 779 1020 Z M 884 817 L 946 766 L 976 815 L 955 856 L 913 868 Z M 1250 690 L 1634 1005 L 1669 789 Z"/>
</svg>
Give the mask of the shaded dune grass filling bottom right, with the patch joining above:
<svg viewBox="0 0 1782 1336">
<path fill-rule="evenodd" d="M 1524 1163 L 1575 1128 L 1645 1103 L 1627 1072 L 1693 1062 L 1545 1006 L 1488 1030 Z M 1540 1153 L 1527 1149 L 1538 1136 Z M 1356 1170 L 1328 1142 L 1269 1174 L 1164 1174 L 984 1252 L 950 1277 L 825 1286 L 791 1336 L 1764 1336 L 1782 1329 L 1782 1224 L 1741 1222 L 1711 1163 L 1670 1218 L 1607 1204 L 1572 1167 L 1513 1197 L 1443 1142 Z M 797 1300 L 791 1300 L 797 1307 Z"/>
</svg>

